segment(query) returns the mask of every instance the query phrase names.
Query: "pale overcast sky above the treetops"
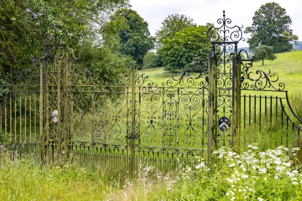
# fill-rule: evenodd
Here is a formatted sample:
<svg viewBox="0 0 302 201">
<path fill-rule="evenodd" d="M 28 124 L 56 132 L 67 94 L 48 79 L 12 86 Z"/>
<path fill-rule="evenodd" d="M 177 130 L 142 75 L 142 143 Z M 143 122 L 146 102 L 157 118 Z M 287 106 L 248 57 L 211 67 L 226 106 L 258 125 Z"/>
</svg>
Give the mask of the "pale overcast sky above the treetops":
<svg viewBox="0 0 302 201">
<path fill-rule="evenodd" d="M 217 19 L 222 18 L 224 10 L 225 17 L 232 20 L 231 25 L 243 25 L 245 30 L 252 25 L 255 11 L 269 2 L 276 2 L 286 10 L 292 21 L 293 34 L 302 41 L 302 0 L 130 0 L 132 9 L 148 23 L 152 36 L 155 36 L 156 30 L 160 29 L 166 17 L 176 13 L 190 16 L 197 25 L 206 23 L 217 25 Z M 247 39 L 249 35 L 244 34 L 243 37 Z M 239 43 L 239 47 L 247 46 L 246 41 Z"/>
</svg>

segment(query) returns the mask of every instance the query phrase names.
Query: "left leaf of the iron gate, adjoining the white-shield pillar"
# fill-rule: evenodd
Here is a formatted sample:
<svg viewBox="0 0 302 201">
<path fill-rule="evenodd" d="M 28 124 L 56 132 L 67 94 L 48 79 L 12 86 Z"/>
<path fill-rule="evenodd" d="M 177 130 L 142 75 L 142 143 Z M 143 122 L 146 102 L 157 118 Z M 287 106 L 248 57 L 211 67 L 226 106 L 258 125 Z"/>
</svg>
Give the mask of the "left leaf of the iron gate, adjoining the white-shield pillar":
<svg viewBox="0 0 302 201">
<path fill-rule="evenodd" d="M 71 136 L 73 158 L 82 163 L 130 168 L 132 139 L 132 73 L 109 85 L 86 68 L 69 65 Z"/>
</svg>

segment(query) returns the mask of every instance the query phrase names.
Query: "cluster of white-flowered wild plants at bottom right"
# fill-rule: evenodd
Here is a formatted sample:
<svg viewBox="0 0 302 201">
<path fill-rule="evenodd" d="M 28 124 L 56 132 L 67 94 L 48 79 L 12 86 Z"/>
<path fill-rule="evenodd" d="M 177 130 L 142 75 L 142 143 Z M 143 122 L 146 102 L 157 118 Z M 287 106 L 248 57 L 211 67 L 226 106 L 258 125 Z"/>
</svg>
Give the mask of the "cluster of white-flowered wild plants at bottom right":
<svg viewBox="0 0 302 201">
<path fill-rule="evenodd" d="M 257 146 L 249 145 L 249 150 L 238 154 L 222 147 L 213 154 L 218 159 L 219 173 L 228 184 L 225 196 L 230 200 L 258 199 L 267 200 L 265 191 L 279 182 L 290 184 L 298 191 L 302 190 L 302 174 L 289 160 L 289 149 L 280 146 L 275 150 L 259 152 Z M 298 151 L 293 148 L 293 156 Z M 196 167 L 197 168 L 197 167 Z M 198 165 L 198 168 L 200 165 Z M 266 188 L 266 189 L 263 189 Z M 271 192 L 270 192 L 271 193 Z"/>
</svg>

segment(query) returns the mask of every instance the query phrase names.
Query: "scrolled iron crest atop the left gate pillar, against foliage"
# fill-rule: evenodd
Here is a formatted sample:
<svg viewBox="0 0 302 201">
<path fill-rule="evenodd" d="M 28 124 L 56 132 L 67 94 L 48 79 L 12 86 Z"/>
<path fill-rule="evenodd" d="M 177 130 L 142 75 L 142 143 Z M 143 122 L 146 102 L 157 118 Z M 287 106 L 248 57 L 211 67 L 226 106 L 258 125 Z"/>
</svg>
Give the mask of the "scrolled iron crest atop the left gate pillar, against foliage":
<svg viewBox="0 0 302 201">
<path fill-rule="evenodd" d="M 49 26 L 49 30 L 44 32 L 42 41 L 45 45 L 49 44 L 66 44 L 69 41 L 69 33 L 62 29 L 61 25 Z"/>
</svg>

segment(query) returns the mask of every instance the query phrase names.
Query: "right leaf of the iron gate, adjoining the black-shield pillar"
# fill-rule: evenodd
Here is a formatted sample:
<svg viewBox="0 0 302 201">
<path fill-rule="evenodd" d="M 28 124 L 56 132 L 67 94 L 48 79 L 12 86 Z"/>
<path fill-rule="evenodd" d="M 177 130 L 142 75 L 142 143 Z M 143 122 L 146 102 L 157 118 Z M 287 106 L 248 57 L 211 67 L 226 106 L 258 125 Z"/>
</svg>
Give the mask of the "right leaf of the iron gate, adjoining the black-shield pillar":
<svg viewBox="0 0 302 201">
<path fill-rule="evenodd" d="M 197 70 L 175 73 L 159 84 L 136 75 L 136 165 L 143 161 L 169 171 L 206 156 L 207 61 L 197 60 Z"/>
</svg>

